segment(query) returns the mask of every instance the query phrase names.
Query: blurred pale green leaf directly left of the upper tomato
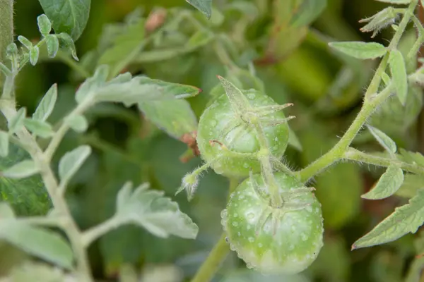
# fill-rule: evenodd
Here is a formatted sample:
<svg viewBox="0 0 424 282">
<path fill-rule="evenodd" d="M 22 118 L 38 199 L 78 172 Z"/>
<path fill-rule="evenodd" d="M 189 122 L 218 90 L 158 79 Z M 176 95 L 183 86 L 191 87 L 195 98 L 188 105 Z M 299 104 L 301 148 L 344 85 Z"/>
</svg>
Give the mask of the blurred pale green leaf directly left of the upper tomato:
<svg viewBox="0 0 424 282">
<path fill-rule="evenodd" d="M 176 139 L 197 129 L 196 116 L 185 100 L 141 102 L 139 109 L 148 120 Z"/>
</svg>

